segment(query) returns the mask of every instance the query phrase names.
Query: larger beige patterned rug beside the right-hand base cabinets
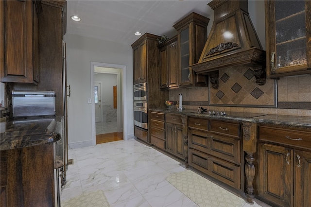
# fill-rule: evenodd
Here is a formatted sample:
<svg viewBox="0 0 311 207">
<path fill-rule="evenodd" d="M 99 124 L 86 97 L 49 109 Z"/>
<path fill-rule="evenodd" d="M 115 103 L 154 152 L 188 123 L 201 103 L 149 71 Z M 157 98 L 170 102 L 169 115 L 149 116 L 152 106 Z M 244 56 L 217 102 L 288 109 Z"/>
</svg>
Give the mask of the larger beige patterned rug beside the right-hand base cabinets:
<svg viewBox="0 0 311 207">
<path fill-rule="evenodd" d="M 242 198 L 190 170 L 173 173 L 166 180 L 200 207 L 243 207 Z"/>
</svg>

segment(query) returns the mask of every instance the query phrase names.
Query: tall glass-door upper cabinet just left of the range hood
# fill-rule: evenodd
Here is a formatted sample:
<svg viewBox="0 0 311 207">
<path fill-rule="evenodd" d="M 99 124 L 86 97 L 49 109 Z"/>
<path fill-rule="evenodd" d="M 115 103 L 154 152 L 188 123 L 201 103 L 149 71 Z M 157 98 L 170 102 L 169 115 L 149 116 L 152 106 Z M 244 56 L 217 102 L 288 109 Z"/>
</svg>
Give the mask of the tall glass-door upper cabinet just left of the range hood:
<svg viewBox="0 0 311 207">
<path fill-rule="evenodd" d="M 207 40 L 209 18 L 192 12 L 177 22 L 179 49 L 179 86 L 207 86 L 206 75 L 194 74 L 190 65 L 198 62 Z"/>
</svg>

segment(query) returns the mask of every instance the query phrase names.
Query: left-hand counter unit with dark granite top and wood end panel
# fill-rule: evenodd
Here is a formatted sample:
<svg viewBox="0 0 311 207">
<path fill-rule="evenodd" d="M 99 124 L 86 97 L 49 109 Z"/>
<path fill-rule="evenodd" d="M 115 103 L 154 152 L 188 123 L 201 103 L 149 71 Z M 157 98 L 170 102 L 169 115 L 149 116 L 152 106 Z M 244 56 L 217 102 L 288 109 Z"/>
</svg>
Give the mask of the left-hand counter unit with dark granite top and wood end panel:
<svg viewBox="0 0 311 207">
<path fill-rule="evenodd" d="M 0 124 L 1 207 L 55 206 L 54 169 L 64 165 L 63 117 Z"/>
</svg>

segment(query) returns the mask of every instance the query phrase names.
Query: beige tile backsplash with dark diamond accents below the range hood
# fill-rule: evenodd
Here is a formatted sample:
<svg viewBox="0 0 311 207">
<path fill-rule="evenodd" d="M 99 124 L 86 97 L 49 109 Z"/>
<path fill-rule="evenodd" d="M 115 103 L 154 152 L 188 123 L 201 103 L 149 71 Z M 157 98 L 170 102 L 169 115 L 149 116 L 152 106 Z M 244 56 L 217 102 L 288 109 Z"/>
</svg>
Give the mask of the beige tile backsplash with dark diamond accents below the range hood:
<svg viewBox="0 0 311 207">
<path fill-rule="evenodd" d="M 226 75 L 223 76 L 225 73 L 229 78 L 225 77 Z M 264 86 L 259 86 L 254 84 L 256 79 L 254 77 L 250 78 L 249 74 L 251 76 L 251 71 L 247 67 L 238 69 L 238 72 L 230 72 L 229 69 L 223 69 L 219 74 L 218 89 L 211 87 L 210 92 L 208 87 L 173 89 L 170 90 L 170 98 L 172 101 L 178 101 L 179 94 L 183 94 L 183 106 L 187 109 L 197 109 L 199 106 L 202 106 L 214 111 L 311 117 L 310 74 L 281 77 L 276 81 L 276 88 L 274 88 L 275 83 L 273 79 L 267 79 Z M 222 77 L 224 80 L 227 79 L 226 82 L 221 79 Z M 230 80 L 230 78 L 232 79 Z M 218 93 L 220 90 L 221 93 Z M 242 92 L 241 95 L 239 94 L 240 91 Z M 275 92 L 277 96 L 276 104 L 274 105 L 273 98 Z M 210 100 L 208 100 L 208 93 L 210 93 Z M 223 99 L 224 97 L 226 98 Z"/>
</svg>

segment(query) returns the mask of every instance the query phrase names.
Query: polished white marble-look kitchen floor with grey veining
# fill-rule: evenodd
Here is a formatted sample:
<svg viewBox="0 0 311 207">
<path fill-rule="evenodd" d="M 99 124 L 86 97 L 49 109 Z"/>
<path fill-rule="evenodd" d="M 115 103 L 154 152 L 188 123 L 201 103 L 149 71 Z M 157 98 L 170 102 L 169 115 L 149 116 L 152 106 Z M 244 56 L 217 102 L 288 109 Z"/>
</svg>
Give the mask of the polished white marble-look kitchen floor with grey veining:
<svg viewBox="0 0 311 207">
<path fill-rule="evenodd" d="M 166 180 L 173 173 L 187 171 L 184 165 L 135 139 L 72 149 L 69 159 L 74 164 L 68 166 L 62 201 L 103 190 L 111 207 L 198 206 Z M 261 206 L 268 207 L 256 199 L 253 205 L 242 205 Z"/>
</svg>

